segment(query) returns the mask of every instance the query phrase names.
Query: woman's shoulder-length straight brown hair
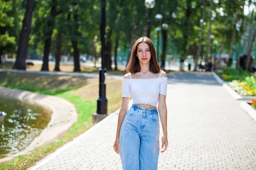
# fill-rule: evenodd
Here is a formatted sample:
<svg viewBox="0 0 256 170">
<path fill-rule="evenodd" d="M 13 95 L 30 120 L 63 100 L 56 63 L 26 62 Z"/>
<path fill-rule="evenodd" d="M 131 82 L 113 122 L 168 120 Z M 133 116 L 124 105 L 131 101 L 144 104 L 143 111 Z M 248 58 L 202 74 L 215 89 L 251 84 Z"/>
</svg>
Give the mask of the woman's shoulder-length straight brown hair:
<svg viewBox="0 0 256 170">
<path fill-rule="evenodd" d="M 137 73 L 140 72 L 140 62 L 138 57 L 136 56 L 137 53 L 137 46 L 141 42 L 145 42 L 149 46 L 149 50 L 151 53 L 151 58 L 149 60 L 149 71 L 156 74 L 161 71 L 160 65 L 157 61 L 157 54 L 156 54 L 156 49 L 154 47 L 153 42 L 148 38 L 148 37 L 140 37 L 135 43 L 131 51 L 131 57 L 128 62 L 128 65 L 126 67 L 126 72 L 127 73 Z"/>
</svg>

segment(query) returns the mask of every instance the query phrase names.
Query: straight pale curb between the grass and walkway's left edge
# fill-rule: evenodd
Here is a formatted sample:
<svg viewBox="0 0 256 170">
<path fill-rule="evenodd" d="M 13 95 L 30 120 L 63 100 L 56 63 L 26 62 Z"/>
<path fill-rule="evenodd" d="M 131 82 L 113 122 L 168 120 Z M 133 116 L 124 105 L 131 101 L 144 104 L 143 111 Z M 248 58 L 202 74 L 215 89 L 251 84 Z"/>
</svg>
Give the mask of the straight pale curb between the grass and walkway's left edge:
<svg viewBox="0 0 256 170">
<path fill-rule="evenodd" d="M 132 99 L 129 102 L 129 108 L 132 105 Z M 75 144 L 76 142 L 78 142 L 80 139 L 85 138 L 85 136 L 87 134 L 89 134 L 91 131 L 93 131 L 94 129 L 98 128 L 101 124 L 107 122 L 109 119 L 111 119 L 115 114 L 119 114 L 120 108 L 118 110 L 116 110 L 114 113 L 112 113 L 111 115 L 109 115 L 108 117 L 106 117 L 105 119 L 103 119 L 102 121 L 100 121 L 99 123 L 97 123 L 96 125 L 94 125 L 93 127 L 91 127 L 89 130 L 87 130 L 86 132 L 84 132 L 83 134 L 81 134 L 80 136 L 78 136 L 77 138 L 75 138 L 72 142 L 65 144 L 64 146 L 58 148 L 54 153 L 49 154 L 45 159 L 39 161 L 37 164 L 35 164 L 33 167 L 28 168 L 28 170 L 37 170 L 39 167 L 43 166 L 44 164 L 46 164 L 49 160 L 55 158 L 56 156 L 58 156 L 59 154 L 61 154 L 64 150 L 67 150 L 67 148 L 69 148 L 70 146 L 72 146 L 73 144 Z"/>
</svg>

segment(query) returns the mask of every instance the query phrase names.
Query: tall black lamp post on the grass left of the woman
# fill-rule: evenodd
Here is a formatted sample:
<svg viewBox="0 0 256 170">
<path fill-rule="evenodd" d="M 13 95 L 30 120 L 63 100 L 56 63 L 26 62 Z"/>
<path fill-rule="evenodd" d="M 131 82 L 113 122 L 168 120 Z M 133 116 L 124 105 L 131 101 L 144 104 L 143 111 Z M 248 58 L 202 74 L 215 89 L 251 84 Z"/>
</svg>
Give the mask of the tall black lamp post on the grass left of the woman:
<svg viewBox="0 0 256 170">
<path fill-rule="evenodd" d="M 102 24 L 101 24 L 101 57 L 102 66 L 99 69 L 99 98 L 97 100 L 97 113 L 93 113 L 93 122 L 100 122 L 108 116 L 108 99 L 106 98 L 106 76 L 105 67 L 105 25 L 106 25 L 106 0 L 102 0 Z"/>
</svg>

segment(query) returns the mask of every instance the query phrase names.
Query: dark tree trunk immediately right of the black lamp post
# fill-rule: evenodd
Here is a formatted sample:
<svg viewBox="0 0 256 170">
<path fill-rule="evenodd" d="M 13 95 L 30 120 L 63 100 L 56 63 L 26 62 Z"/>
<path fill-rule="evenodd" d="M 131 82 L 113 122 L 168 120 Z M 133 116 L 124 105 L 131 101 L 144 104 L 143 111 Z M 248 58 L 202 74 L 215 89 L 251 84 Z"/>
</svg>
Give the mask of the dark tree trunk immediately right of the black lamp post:
<svg viewBox="0 0 256 170">
<path fill-rule="evenodd" d="M 111 64 L 111 37 L 112 37 L 112 28 L 108 27 L 108 32 L 106 36 L 106 48 L 105 48 L 105 61 L 107 70 L 112 70 Z"/>
</svg>

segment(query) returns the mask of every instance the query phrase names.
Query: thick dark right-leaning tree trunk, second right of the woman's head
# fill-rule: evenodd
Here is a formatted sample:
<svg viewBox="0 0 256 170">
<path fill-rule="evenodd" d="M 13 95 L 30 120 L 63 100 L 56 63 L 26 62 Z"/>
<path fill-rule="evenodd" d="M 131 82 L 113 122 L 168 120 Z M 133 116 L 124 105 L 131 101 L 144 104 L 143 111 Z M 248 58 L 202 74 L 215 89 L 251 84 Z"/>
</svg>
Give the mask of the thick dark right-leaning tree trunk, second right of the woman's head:
<svg viewBox="0 0 256 170">
<path fill-rule="evenodd" d="M 191 0 L 186 0 L 186 5 L 187 5 L 186 14 L 185 14 L 186 19 L 185 19 L 184 31 L 183 31 L 183 39 L 184 39 L 183 56 L 181 56 L 181 58 L 180 58 L 180 71 L 184 71 L 183 62 L 184 62 L 184 60 L 186 58 L 186 54 L 187 54 L 186 46 L 188 43 L 189 18 L 190 18 L 191 12 L 192 12 Z"/>
</svg>

